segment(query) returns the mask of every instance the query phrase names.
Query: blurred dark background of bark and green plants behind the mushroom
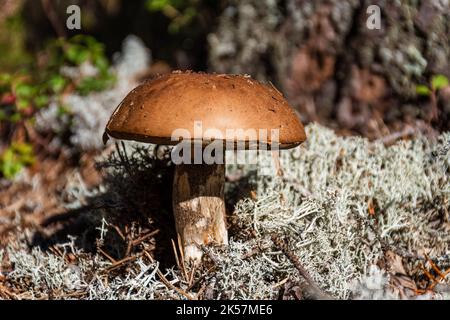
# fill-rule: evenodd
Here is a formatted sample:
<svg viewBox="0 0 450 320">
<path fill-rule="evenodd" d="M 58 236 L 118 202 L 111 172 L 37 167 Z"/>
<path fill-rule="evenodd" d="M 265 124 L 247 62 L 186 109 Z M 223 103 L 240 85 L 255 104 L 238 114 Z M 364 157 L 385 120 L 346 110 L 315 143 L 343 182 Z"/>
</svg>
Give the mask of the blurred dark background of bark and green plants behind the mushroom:
<svg viewBox="0 0 450 320">
<path fill-rule="evenodd" d="M 71 5 L 79 28 L 68 28 Z M 3 178 L 39 157 L 77 164 L 102 149 L 124 95 L 176 69 L 271 81 L 302 121 L 340 135 L 390 143 L 450 126 L 448 0 L 0 0 L 0 8 Z"/>
</svg>

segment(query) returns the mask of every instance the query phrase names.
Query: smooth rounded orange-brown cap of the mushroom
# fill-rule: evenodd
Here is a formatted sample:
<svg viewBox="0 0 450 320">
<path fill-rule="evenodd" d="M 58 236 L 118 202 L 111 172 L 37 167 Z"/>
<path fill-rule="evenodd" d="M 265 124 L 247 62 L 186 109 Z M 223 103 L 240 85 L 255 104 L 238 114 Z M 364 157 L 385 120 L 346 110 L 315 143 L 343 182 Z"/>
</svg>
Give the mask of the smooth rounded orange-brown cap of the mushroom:
<svg viewBox="0 0 450 320">
<path fill-rule="evenodd" d="M 172 139 L 176 129 L 182 130 Z M 104 137 L 164 145 L 218 139 L 249 148 L 273 144 L 276 129 L 280 149 L 306 139 L 302 123 L 272 85 L 249 76 L 175 71 L 133 89 L 112 114 Z"/>
</svg>

